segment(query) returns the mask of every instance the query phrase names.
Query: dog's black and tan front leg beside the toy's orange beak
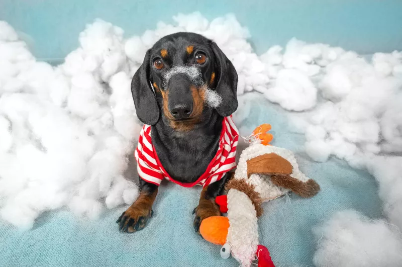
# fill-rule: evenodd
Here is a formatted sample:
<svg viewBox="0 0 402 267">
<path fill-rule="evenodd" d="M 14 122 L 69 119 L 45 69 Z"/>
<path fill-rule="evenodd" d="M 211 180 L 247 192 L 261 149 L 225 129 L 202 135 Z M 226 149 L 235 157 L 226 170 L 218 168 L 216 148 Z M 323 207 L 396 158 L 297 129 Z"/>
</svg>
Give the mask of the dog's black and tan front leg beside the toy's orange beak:
<svg viewBox="0 0 402 267">
<path fill-rule="evenodd" d="M 194 230 L 198 234 L 199 225 L 205 218 L 221 215 L 219 206 L 217 203 L 215 203 L 215 198 L 223 193 L 225 185 L 232 175 L 232 173 L 226 173 L 221 180 L 209 185 L 208 187 L 203 188 L 203 191 L 201 191 L 198 206 L 194 208 L 192 212 L 193 214 L 195 213 L 195 218 L 193 222 Z"/>
</svg>

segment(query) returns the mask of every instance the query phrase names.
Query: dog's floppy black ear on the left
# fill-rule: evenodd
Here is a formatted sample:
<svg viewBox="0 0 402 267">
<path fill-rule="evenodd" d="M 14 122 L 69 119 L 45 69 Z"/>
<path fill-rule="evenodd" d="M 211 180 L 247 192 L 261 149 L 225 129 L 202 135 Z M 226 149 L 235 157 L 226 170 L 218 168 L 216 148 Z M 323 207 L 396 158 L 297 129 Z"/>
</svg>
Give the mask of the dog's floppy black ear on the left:
<svg viewBox="0 0 402 267">
<path fill-rule="evenodd" d="M 148 50 L 144 62 L 134 74 L 131 81 L 131 93 L 138 119 L 145 124 L 155 125 L 159 120 L 159 108 L 150 84 L 149 54 Z"/>
</svg>

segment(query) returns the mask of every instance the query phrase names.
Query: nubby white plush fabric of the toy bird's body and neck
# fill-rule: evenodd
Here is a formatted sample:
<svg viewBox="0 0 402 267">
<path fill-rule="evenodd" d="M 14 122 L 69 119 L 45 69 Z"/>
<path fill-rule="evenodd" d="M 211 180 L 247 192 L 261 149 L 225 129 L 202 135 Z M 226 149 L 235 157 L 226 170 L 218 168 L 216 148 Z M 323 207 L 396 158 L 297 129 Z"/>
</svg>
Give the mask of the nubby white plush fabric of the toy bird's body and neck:
<svg viewBox="0 0 402 267">
<path fill-rule="evenodd" d="M 246 148 L 239 160 L 234 179 L 243 180 L 255 186 L 255 191 L 260 194 L 263 202 L 275 199 L 289 192 L 289 189 L 274 185 L 269 175 L 252 174 L 247 176 L 247 160 L 263 154 L 275 153 L 290 162 L 293 171 L 290 174 L 293 178 L 306 182 L 309 180 L 298 170 L 294 154 L 284 148 L 275 146 L 265 146 L 254 143 Z M 257 252 L 258 224 L 255 206 L 244 192 L 236 189 L 228 191 L 228 218 L 229 229 L 227 243 L 231 246 L 232 256 L 235 257 L 242 266 L 251 266 Z"/>
</svg>

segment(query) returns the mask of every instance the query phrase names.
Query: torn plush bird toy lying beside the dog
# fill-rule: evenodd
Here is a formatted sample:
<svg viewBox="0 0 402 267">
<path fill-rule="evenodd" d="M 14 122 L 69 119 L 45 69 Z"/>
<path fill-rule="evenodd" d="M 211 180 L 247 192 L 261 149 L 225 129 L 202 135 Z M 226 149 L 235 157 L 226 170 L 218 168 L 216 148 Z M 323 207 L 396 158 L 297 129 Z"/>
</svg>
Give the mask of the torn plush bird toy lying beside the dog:
<svg viewBox="0 0 402 267">
<path fill-rule="evenodd" d="M 251 145 L 242 152 L 235 174 L 226 185 L 227 195 L 216 198 L 227 217 L 206 218 L 199 228 L 207 241 L 222 245 L 223 258 L 232 254 L 244 267 L 256 259 L 258 267 L 274 267 L 268 249 L 258 241 L 261 204 L 289 191 L 312 197 L 320 190 L 314 180 L 299 171 L 291 151 L 269 145 L 273 136 L 266 132 L 270 129 L 269 124 L 263 124 L 247 138 Z"/>
</svg>

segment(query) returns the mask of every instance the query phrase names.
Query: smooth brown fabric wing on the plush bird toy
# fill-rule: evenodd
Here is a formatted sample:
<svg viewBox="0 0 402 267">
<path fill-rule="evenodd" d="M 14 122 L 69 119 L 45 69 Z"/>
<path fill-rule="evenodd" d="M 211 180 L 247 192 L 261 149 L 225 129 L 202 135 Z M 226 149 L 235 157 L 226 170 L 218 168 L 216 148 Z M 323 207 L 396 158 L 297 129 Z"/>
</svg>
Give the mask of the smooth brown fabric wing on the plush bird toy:
<svg viewBox="0 0 402 267">
<path fill-rule="evenodd" d="M 247 176 L 251 174 L 290 174 L 293 171 L 292 164 L 278 154 L 269 153 L 247 160 Z"/>
</svg>

